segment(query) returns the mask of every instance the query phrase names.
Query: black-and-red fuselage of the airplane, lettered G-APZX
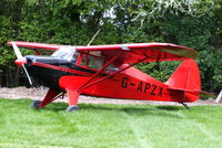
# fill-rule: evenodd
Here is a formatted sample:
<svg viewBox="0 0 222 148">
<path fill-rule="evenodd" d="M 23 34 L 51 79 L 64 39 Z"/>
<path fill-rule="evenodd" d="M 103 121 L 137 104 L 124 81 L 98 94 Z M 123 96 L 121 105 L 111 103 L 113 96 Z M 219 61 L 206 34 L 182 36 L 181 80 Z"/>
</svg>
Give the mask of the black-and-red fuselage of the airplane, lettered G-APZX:
<svg viewBox="0 0 222 148">
<path fill-rule="evenodd" d="M 57 91 L 65 91 L 67 88 L 78 89 L 98 72 L 98 70 L 90 68 L 87 64 L 80 64 L 81 60 L 79 60 L 79 64 L 74 64 L 51 56 L 27 56 L 27 59 L 26 67 L 31 76 Z M 114 68 L 120 71 L 128 66 L 129 64 L 121 64 Z M 114 73 L 113 67 L 100 73 L 93 80 L 95 83 L 81 89 L 81 94 L 111 98 L 180 102 L 179 96 L 182 95 L 180 92 L 172 94 L 168 91 L 167 84 L 135 67 L 129 67 L 109 78 L 100 81 L 112 73 Z"/>
</svg>

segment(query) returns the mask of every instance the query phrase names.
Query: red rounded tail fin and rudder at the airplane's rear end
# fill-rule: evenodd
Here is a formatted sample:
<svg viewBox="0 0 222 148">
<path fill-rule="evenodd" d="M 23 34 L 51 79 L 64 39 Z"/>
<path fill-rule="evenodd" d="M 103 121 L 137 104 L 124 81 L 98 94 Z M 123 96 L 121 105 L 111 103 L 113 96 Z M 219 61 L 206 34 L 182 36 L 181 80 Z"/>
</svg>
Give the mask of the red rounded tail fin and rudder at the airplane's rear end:
<svg viewBox="0 0 222 148">
<path fill-rule="evenodd" d="M 200 71 L 195 61 L 182 62 L 165 84 L 174 102 L 196 101 L 202 92 Z"/>
</svg>

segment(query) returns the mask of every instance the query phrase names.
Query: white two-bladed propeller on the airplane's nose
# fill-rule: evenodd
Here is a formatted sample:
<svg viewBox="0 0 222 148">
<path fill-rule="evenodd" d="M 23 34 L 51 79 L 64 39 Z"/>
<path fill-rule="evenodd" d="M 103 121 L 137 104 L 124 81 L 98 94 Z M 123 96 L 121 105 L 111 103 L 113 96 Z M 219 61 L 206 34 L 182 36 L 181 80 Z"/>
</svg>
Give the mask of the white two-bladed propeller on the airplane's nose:
<svg viewBox="0 0 222 148">
<path fill-rule="evenodd" d="M 28 71 L 27 71 L 27 68 L 26 68 L 26 66 L 24 66 L 24 64 L 23 64 L 23 63 L 26 63 L 26 62 L 24 62 L 24 61 L 26 61 L 26 60 L 24 60 L 26 57 L 22 56 L 22 54 L 21 54 L 19 47 L 17 46 L 17 44 L 16 44 L 14 42 L 12 42 L 11 44 L 12 44 L 12 47 L 13 47 L 14 53 L 16 53 L 16 55 L 17 55 L 17 61 L 22 62 L 21 66 L 23 67 L 24 73 L 27 74 L 29 84 L 32 85 L 31 77 L 30 77 L 30 75 L 29 75 L 29 73 L 28 73 Z"/>
</svg>

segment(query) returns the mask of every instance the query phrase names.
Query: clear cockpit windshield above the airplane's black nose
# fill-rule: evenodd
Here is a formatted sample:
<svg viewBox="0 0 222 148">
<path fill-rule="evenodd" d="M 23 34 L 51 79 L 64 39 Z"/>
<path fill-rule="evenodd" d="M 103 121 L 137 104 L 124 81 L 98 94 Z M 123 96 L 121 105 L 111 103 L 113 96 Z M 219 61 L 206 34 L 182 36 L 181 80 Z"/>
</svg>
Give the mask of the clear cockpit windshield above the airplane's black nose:
<svg viewBox="0 0 222 148">
<path fill-rule="evenodd" d="M 65 60 L 77 60 L 78 53 L 77 50 L 72 46 L 61 46 L 51 56 Z"/>
</svg>

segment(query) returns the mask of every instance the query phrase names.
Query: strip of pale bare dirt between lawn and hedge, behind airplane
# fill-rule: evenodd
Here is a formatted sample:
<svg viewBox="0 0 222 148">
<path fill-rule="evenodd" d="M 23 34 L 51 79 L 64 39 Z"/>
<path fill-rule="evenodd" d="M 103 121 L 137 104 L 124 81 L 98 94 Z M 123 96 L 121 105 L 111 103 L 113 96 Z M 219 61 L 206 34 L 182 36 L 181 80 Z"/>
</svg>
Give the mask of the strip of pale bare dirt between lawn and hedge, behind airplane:
<svg viewBox="0 0 222 148">
<path fill-rule="evenodd" d="M 47 87 L 39 88 L 27 88 L 27 87 L 17 87 L 17 88 L 0 88 L 0 97 L 1 98 L 30 98 L 30 99 L 42 99 L 47 94 Z M 68 103 L 67 96 L 63 99 L 57 99 L 56 102 L 64 102 Z M 79 98 L 79 103 L 90 103 L 90 104 L 151 104 L 151 105 L 180 105 L 178 103 L 171 102 L 153 102 L 153 101 L 130 101 L 130 99 L 113 99 L 113 98 L 103 98 L 103 97 L 91 97 L 81 95 Z M 189 106 L 201 106 L 201 105 L 214 105 L 222 106 L 221 103 L 215 103 L 214 99 L 201 101 L 194 103 L 189 103 Z"/>
</svg>

